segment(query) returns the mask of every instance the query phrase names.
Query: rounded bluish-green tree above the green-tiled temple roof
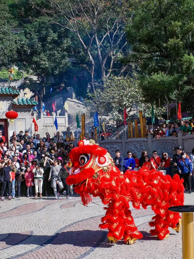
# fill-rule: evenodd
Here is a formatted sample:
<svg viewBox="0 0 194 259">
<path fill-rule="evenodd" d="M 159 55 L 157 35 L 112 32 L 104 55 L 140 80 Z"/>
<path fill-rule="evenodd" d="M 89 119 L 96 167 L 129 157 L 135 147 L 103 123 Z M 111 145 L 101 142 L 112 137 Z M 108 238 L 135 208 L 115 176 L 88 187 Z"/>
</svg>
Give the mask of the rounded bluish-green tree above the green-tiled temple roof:
<svg viewBox="0 0 194 259">
<path fill-rule="evenodd" d="M 16 62 L 27 72 L 33 70 L 37 76 L 43 77 L 64 72 L 70 66 L 66 51 L 71 43 L 62 29 L 52 26 L 46 18 L 24 26 L 16 42 Z"/>
</svg>

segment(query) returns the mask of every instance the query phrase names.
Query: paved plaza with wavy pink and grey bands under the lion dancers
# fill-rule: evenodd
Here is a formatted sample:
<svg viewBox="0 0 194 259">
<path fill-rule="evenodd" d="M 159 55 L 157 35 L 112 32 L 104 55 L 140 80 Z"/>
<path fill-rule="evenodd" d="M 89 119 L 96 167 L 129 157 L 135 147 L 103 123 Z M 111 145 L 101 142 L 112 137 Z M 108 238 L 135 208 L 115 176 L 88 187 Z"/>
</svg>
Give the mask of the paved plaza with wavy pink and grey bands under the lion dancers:
<svg viewBox="0 0 194 259">
<path fill-rule="evenodd" d="M 0 259 L 182 258 L 181 232 L 170 229 L 165 240 L 150 235 L 150 208 L 132 209 L 142 240 L 108 244 L 107 232 L 98 228 L 105 214 L 100 199 L 84 207 L 79 196 L 60 198 L 21 197 L 0 203 Z M 193 200 L 194 193 L 185 194 L 186 205 Z"/>
</svg>

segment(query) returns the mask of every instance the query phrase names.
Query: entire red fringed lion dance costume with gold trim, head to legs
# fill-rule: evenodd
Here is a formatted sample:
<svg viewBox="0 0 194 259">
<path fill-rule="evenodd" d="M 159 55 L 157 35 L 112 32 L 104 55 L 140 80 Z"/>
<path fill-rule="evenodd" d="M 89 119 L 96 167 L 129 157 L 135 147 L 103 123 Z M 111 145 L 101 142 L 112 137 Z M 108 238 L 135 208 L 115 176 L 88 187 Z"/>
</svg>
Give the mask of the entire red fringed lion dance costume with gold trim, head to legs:
<svg viewBox="0 0 194 259">
<path fill-rule="evenodd" d="M 169 227 L 180 231 L 179 213 L 168 210 L 170 206 L 183 205 L 184 202 L 184 187 L 177 174 L 172 179 L 155 170 L 149 172 L 144 167 L 138 172 L 127 170 L 122 175 L 104 148 L 91 140 L 81 140 L 78 145 L 69 155 L 71 168 L 67 183 L 75 185 L 75 192 L 80 194 L 83 205 L 92 201 L 90 193 L 108 205 L 99 227 L 108 228 L 109 243 L 124 238 L 126 244 L 133 244 L 143 237 L 135 226 L 129 202 L 135 209 L 140 209 L 140 205 L 144 209 L 151 206 L 156 216 L 149 223 L 154 227 L 150 232 L 158 239 L 169 236 Z"/>
</svg>

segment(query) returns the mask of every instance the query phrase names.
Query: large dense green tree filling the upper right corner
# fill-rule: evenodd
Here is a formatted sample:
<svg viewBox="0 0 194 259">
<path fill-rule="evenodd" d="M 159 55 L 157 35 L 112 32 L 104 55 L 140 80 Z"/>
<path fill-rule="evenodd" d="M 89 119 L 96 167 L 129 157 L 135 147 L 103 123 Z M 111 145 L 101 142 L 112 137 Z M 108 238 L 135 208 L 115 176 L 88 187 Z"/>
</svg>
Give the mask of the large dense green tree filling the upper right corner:
<svg viewBox="0 0 194 259">
<path fill-rule="evenodd" d="M 182 101 L 193 88 L 194 1 L 135 3 L 126 27 L 132 52 L 125 63 L 136 65 L 147 102 L 161 107 Z"/>
</svg>

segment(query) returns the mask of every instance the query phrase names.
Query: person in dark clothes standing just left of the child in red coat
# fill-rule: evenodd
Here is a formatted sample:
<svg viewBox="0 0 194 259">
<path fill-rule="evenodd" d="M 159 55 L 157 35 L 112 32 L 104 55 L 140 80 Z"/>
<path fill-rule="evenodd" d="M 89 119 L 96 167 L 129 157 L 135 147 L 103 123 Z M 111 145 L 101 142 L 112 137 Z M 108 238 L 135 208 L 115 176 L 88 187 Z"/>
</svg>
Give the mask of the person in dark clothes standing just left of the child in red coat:
<svg viewBox="0 0 194 259">
<path fill-rule="evenodd" d="M 17 198 L 20 197 L 20 193 L 21 193 L 21 189 L 22 189 L 22 196 L 25 196 L 26 193 L 26 185 L 25 185 L 25 164 L 24 163 L 20 163 L 20 168 L 18 169 L 18 171 L 16 172 L 16 179 L 17 179 Z"/>
</svg>

